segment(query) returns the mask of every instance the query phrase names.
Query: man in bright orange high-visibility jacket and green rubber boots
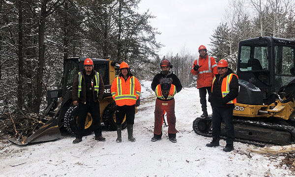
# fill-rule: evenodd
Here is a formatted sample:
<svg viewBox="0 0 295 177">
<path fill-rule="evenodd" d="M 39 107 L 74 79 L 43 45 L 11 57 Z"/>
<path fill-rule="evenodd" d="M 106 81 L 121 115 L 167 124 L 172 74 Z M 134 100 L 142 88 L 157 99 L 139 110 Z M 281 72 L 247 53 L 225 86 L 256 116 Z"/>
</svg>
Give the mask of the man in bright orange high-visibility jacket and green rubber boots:
<svg viewBox="0 0 295 177">
<path fill-rule="evenodd" d="M 133 137 L 133 124 L 135 118 L 135 103 L 141 92 L 141 85 L 134 77 L 126 62 L 120 64 L 120 74 L 112 83 L 111 92 L 117 104 L 116 124 L 117 124 L 117 143 L 122 142 L 121 124 L 126 115 L 128 140 L 135 142 Z"/>
</svg>

